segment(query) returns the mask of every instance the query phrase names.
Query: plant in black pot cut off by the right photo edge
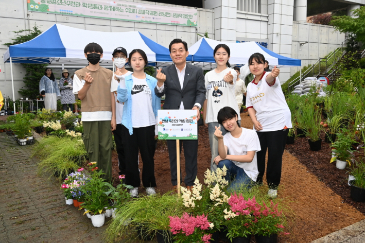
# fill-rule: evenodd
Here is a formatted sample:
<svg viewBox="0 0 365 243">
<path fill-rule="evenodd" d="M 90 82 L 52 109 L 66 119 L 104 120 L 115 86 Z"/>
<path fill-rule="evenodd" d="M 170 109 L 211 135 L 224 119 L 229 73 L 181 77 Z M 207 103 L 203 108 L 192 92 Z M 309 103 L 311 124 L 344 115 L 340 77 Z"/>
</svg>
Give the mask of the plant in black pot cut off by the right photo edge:
<svg viewBox="0 0 365 243">
<path fill-rule="evenodd" d="M 351 174 L 355 178 L 350 181 L 351 198 L 356 202 L 363 202 L 365 201 L 365 163 L 363 158 L 357 166 L 351 169 Z"/>
</svg>

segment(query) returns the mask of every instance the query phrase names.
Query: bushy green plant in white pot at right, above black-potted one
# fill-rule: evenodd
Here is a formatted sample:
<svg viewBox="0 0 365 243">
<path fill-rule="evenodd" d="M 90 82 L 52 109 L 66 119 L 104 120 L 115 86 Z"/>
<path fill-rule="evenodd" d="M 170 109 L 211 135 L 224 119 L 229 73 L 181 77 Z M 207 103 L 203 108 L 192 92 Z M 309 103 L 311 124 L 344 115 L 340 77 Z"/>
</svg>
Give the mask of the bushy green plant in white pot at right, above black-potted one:
<svg viewBox="0 0 365 243">
<path fill-rule="evenodd" d="M 343 129 L 342 133 L 337 133 L 337 140 L 332 144 L 334 148 L 332 151 L 335 153 L 335 157 L 331 159 L 331 163 L 336 161 L 338 169 L 344 169 L 347 163 L 351 165 L 352 143 L 354 143 L 354 139 L 349 130 Z"/>
</svg>

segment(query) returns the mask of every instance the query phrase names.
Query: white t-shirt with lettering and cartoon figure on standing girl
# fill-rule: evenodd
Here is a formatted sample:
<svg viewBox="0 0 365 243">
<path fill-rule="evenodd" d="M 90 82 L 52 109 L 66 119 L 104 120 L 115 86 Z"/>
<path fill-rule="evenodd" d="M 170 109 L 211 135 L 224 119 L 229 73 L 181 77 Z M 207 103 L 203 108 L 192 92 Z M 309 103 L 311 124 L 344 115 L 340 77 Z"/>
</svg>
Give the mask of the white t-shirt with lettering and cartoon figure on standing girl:
<svg viewBox="0 0 365 243">
<path fill-rule="evenodd" d="M 223 80 L 224 75 L 230 71 L 233 75 L 233 84 Z M 219 74 L 215 70 L 205 74 L 205 99 L 207 99 L 205 123 L 218 122 L 217 115 L 223 107 L 231 107 L 239 114 L 234 93 L 236 79 L 237 72 L 232 68 L 226 68 Z"/>
</svg>

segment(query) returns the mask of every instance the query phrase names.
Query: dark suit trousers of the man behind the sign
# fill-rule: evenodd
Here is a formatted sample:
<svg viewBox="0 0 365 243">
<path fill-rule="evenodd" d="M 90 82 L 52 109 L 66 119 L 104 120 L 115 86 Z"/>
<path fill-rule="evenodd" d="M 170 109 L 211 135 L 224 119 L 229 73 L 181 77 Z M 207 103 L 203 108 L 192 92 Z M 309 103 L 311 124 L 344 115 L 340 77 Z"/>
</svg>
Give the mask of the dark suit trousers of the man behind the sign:
<svg viewBox="0 0 365 243">
<path fill-rule="evenodd" d="M 194 185 L 194 180 L 197 177 L 198 173 L 198 140 L 180 140 L 180 153 L 182 145 L 184 146 L 186 172 L 184 182 L 186 186 L 192 186 Z M 171 183 L 172 185 L 176 186 L 178 184 L 178 170 L 176 165 L 176 140 L 167 140 L 167 148 L 170 158 Z"/>
</svg>

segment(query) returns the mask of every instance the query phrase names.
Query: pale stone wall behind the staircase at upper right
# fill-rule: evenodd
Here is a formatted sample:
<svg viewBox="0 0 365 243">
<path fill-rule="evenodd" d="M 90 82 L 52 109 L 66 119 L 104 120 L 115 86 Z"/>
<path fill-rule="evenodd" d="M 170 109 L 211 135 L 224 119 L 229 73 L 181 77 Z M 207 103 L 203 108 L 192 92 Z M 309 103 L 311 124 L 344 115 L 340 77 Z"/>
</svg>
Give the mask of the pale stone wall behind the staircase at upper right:
<svg viewBox="0 0 365 243">
<path fill-rule="evenodd" d="M 293 21 L 291 58 L 301 59 L 302 66 L 315 63 L 335 50 L 345 39 L 345 34 L 334 31 L 334 27 Z M 308 42 L 307 44 L 300 43 Z M 290 76 L 299 67 L 290 68 Z"/>
</svg>

